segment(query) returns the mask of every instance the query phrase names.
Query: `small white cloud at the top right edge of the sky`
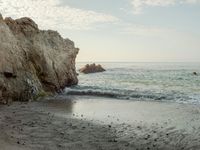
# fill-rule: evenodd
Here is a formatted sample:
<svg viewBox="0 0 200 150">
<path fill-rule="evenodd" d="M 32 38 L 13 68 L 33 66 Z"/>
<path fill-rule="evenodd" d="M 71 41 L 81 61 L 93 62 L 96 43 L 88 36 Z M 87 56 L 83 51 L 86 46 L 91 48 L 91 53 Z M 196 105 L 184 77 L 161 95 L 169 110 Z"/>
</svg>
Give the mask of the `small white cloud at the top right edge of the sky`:
<svg viewBox="0 0 200 150">
<path fill-rule="evenodd" d="M 141 14 L 144 7 L 172 6 L 176 4 L 196 4 L 200 0 L 131 0 L 134 14 Z"/>
</svg>

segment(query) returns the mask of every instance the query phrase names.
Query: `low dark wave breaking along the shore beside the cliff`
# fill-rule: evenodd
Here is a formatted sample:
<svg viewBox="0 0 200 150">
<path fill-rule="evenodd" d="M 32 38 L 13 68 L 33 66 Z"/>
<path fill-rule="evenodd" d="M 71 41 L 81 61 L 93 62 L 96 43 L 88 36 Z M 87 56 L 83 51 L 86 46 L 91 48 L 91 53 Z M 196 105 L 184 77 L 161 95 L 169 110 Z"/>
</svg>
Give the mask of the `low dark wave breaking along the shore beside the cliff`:
<svg viewBox="0 0 200 150">
<path fill-rule="evenodd" d="M 99 96 L 115 99 L 125 100 L 157 100 L 157 101 L 169 101 L 189 99 L 188 96 L 184 96 L 183 93 L 160 93 L 153 91 L 139 91 L 139 90 L 122 90 L 122 89 L 102 89 L 101 87 L 93 86 L 74 86 L 72 88 L 66 88 L 65 94 L 67 95 L 85 95 L 85 96 Z"/>
</svg>

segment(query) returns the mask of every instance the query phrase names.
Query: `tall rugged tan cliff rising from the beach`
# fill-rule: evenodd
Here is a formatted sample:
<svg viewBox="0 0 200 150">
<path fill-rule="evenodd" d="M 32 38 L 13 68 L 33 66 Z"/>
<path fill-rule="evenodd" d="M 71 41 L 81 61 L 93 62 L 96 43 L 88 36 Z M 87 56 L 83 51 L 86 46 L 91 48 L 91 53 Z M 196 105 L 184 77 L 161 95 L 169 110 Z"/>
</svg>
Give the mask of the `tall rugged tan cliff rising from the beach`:
<svg viewBox="0 0 200 150">
<path fill-rule="evenodd" d="M 78 51 L 72 41 L 56 31 L 39 30 L 29 18 L 0 15 L 0 103 L 77 84 Z"/>
</svg>

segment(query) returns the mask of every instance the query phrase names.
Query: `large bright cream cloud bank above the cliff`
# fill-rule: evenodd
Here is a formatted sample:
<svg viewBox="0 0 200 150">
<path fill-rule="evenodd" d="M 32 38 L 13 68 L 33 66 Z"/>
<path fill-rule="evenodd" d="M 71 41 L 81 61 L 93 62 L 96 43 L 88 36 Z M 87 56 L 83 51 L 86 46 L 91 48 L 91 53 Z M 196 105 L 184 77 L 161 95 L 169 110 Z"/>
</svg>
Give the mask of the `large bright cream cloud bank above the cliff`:
<svg viewBox="0 0 200 150">
<path fill-rule="evenodd" d="M 90 10 L 64 6 L 60 0 L 0 0 L 4 16 L 28 16 L 42 29 L 87 30 L 95 24 L 115 22 L 118 18 Z"/>
</svg>

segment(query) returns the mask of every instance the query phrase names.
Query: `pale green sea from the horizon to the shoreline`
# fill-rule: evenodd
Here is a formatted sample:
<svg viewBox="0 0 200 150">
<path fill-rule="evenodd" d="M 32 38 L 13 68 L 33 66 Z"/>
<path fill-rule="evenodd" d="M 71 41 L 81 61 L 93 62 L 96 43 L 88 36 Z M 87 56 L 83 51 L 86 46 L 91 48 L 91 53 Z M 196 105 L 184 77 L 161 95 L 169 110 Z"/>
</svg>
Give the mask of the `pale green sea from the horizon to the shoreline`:
<svg viewBox="0 0 200 150">
<path fill-rule="evenodd" d="M 77 72 L 85 64 L 77 63 Z M 79 84 L 66 88 L 65 94 L 133 101 L 200 103 L 200 63 L 98 64 L 106 71 L 79 73 Z"/>
</svg>

